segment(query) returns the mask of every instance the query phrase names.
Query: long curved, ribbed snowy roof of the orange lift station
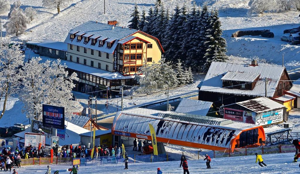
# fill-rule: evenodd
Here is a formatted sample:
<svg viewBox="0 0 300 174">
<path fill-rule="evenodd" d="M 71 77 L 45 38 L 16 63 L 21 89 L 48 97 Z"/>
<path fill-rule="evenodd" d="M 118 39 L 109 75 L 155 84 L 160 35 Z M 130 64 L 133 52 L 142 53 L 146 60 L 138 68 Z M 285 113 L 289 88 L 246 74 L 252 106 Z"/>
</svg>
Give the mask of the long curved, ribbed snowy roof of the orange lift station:
<svg viewBox="0 0 300 174">
<path fill-rule="evenodd" d="M 170 116 L 160 116 L 164 114 Z M 229 148 L 230 141 L 240 134 L 242 130 L 260 127 L 259 125 L 235 122 L 228 119 L 200 116 L 228 122 L 228 124 L 223 126 L 210 125 L 173 119 L 173 115 L 197 116 L 178 112 L 134 108 L 117 112 L 113 121 L 112 131 L 149 136 L 149 124 L 152 124 L 156 130 L 157 137 Z"/>
</svg>

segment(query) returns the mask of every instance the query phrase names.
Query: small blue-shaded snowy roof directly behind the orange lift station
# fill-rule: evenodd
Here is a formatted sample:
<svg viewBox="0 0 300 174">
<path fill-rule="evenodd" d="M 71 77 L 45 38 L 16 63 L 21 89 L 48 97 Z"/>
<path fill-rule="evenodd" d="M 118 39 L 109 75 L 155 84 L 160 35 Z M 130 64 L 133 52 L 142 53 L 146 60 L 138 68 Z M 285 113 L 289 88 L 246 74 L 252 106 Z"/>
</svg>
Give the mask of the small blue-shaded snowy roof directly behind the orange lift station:
<svg viewBox="0 0 300 174">
<path fill-rule="evenodd" d="M 206 115 L 211 108 L 211 105 L 212 102 L 183 98 L 175 112 Z"/>
</svg>

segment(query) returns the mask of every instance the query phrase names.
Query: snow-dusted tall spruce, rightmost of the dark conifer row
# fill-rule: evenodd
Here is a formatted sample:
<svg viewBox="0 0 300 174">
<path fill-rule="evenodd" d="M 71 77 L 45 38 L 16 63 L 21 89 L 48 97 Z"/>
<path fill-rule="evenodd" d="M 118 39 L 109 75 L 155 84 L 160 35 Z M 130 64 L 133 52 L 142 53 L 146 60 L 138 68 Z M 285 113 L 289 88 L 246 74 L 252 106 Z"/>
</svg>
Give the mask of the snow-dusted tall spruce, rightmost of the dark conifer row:
<svg viewBox="0 0 300 174">
<path fill-rule="evenodd" d="M 206 41 L 204 44 L 208 45 L 205 51 L 204 59 L 206 60 L 203 71 L 207 72 L 212 61 L 225 62 L 228 57 L 225 55 L 226 40 L 222 37 L 221 22 L 219 20 L 218 11 L 211 13 L 210 25 L 206 30 Z"/>
</svg>

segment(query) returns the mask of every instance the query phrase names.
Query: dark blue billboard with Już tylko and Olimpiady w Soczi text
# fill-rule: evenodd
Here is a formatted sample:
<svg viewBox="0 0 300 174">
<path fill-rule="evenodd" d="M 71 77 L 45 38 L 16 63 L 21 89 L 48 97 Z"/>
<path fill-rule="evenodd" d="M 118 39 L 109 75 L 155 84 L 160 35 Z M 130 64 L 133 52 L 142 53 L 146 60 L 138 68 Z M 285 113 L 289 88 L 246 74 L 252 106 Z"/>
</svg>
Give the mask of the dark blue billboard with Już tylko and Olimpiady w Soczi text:
<svg viewBox="0 0 300 174">
<path fill-rule="evenodd" d="M 43 126 L 64 129 L 64 107 L 43 105 Z"/>
</svg>

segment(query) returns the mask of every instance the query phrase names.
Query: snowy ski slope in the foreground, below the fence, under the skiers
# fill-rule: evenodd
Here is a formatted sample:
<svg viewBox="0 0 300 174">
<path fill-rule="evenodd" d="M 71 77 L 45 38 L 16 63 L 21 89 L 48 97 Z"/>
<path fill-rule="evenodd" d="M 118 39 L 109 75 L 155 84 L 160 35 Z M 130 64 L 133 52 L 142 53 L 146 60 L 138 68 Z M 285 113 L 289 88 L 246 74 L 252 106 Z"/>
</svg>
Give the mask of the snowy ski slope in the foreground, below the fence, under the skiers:
<svg viewBox="0 0 300 174">
<path fill-rule="evenodd" d="M 299 162 L 292 163 L 294 153 L 284 154 L 269 154 L 262 155 L 266 167 L 260 167 L 255 164 L 255 156 L 241 156 L 229 158 L 213 158 L 211 161 L 211 169 L 206 169 L 205 161 L 188 160 L 188 168 L 190 173 L 220 173 L 220 174 L 254 174 L 254 173 L 299 173 Z M 157 168 L 160 167 L 163 174 L 167 173 L 183 173 L 182 167 L 179 168 L 180 161 L 157 162 L 157 163 L 136 163 L 128 164 L 128 170 L 124 170 L 124 164 L 110 164 L 110 165 L 94 165 L 94 166 L 80 166 L 78 173 L 91 174 L 91 173 L 130 173 L 130 174 L 154 174 Z M 67 174 L 66 169 L 70 166 L 50 165 L 51 173 L 59 170 L 60 174 Z M 41 166 L 25 166 L 17 168 L 18 173 L 45 173 L 47 165 Z M 65 172 L 63 172 L 63 170 Z"/>
</svg>

